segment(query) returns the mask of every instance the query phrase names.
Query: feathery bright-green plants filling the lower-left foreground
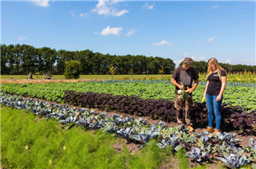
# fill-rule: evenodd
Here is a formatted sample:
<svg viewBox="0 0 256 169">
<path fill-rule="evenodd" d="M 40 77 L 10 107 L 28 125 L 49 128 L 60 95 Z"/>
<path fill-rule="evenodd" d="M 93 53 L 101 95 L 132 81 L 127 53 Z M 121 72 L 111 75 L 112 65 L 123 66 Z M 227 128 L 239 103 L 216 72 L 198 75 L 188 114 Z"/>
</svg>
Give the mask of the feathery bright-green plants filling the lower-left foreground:
<svg viewBox="0 0 256 169">
<path fill-rule="evenodd" d="M 0 162 L 7 168 L 157 168 L 165 153 L 151 142 L 143 151 L 130 155 L 110 134 L 62 130 L 55 120 L 38 120 L 25 111 L 0 108 Z"/>
</svg>

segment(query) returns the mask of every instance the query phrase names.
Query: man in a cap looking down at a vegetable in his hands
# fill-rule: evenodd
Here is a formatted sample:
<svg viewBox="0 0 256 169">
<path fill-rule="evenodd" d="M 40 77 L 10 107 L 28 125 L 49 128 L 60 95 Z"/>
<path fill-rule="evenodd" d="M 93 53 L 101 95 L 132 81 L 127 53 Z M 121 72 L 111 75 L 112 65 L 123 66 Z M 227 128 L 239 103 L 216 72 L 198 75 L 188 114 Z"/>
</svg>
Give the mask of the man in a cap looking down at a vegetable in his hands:
<svg viewBox="0 0 256 169">
<path fill-rule="evenodd" d="M 182 122 L 182 112 L 186 111 L 186 125 L 190 129 L 189 132 L 193 132 L 194 128 L 192 128 L 192 113 L 193 113 L 193 98 L 192 92 L 198 86 L 198 71 L 191 66 L 193 65 L 193 60 L 190 57 L 186 57 L 183 60 L 183 65 L 178 66 L 177 69 L 174 70 L 173 77 L 171 78 L 171 83 L 176 86 L 175 88 L 175 100 L 174 107 L 177 109 L 177 122 L 178 124 L 185 124 Z M 192 87 L 192 82 L 194 80 L 194 85 Z M 182 88 L 182 84 L 184 88 Z M 187 89 L 189 90 L 189 99 L 182 100 L 178 99 L 178 90 L 179 89 Z M 185 106 L 183 106 L 185 104 Z M 185 110 L 183 110 L 183 107 Z"/>
</svg>

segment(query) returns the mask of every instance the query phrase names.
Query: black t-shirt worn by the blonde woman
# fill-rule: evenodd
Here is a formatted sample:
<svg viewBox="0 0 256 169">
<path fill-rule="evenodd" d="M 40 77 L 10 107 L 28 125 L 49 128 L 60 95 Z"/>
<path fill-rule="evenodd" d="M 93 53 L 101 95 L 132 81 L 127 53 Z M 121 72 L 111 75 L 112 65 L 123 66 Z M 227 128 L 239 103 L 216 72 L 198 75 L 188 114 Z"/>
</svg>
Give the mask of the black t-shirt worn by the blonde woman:
<svg viewBox="0 0 256 169">
<path fill-rule="evenodd" d="M 221 70 L 221 76 L 226 77 L 226 72 Z M 222 81 L 219 80 L 218 72 L 211 73 L 207 78 L 209 84 L 207 86 L 206 94 L 210 96 L 218 96 L 222 88 Z"/>
</svg>

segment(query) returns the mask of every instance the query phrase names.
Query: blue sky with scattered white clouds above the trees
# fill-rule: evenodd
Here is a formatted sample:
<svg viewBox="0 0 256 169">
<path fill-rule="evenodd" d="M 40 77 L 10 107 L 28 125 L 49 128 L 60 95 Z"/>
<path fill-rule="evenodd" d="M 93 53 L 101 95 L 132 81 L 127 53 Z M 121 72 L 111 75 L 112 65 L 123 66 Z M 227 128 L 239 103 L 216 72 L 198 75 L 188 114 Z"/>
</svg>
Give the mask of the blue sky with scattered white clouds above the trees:
<svg viewBox="0 0 256 169">
<path fill-rule="evenodd" d="M 256 65 L 255 2 L 2 0 L 1 43 Z"/>
</svg>

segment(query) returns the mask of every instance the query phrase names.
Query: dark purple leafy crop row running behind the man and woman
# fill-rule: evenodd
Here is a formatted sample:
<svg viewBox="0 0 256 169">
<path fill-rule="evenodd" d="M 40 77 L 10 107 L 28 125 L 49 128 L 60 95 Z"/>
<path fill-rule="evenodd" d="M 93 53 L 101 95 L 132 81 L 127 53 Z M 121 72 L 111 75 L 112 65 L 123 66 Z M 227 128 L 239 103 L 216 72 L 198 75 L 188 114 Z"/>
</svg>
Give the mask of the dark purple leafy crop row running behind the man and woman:
<svg viewBox="0 0 256 169">
<path fill-rule="evenodd" d="M 150 116 L 154 120 L 166 122 L 176 121 L 176 108 L 172 100 L 142 99 L 138 96 L 113 95 L 110 93 L 98 92 L 75 92 L 65 91 L 64 100 L 75 106 L 86 108 L 100 108 L 106 111 L 122 112 L 137 116 Z M 256 136 L 256 112 L 248 114 L 241 106 L 222 104 L 221 128 L 236 130 L 241 135 Z M 185 113 L 183 112 L 185 116 Z M 194 103 L 193 108 L 194 124 L 205 128 L 208 124 L 206 103 Z"/>
</svg>

